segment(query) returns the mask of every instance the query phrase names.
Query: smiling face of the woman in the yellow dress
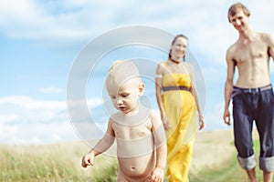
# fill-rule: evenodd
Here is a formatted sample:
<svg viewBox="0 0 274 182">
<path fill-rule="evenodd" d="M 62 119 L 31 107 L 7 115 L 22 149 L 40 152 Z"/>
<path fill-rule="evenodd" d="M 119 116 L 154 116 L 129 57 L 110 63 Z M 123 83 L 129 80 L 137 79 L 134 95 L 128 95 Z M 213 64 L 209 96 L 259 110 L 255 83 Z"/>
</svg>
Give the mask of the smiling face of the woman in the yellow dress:
<svg viewBox="0 0 274 182">
<path fill-rule="evenodd" d="M 187 39 L 185 39 L 182 36 L 179 36 L 176 38 L 174 45 L 172 45 L 171 49 L 171 55 L 174 57 L 174 59 L 182 59 L 185 56 L 185 51 L 188 45 Z"/>
</svg>

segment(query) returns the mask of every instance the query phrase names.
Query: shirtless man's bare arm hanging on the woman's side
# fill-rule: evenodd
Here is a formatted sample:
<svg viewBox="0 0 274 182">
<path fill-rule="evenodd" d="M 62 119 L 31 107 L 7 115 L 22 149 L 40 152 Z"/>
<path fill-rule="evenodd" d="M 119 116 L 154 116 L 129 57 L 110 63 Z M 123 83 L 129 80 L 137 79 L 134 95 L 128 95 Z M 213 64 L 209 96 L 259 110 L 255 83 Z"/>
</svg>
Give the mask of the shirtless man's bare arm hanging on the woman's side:
<svg viewBox="0 0 274 182">
<path fill-rule="evenodd" d="M 232 58 L 232 53 L 231 49 L 227 50 L 227 80 L 225 84 L 225 111 L 224 111 L 224 116 L 223 119 L 225 123 L 229 126 L 230 125 L 230 113 L 228 110 L 229 106 L 229 101 L 230 101 L 230 96 L 233 91 L 233 77 L 235 73 L 235 63 Z"/>
</svg>

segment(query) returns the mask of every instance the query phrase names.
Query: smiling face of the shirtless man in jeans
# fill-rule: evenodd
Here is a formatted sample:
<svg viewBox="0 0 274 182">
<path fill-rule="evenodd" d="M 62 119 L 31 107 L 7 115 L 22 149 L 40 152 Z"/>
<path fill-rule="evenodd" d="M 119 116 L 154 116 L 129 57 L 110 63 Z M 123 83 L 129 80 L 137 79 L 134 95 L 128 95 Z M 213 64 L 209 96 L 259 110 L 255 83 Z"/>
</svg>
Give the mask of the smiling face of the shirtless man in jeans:
<svg viewBox="0 0 274 182">
<path fill-rule="evenodd" d="M 246 30 L 248 25 L 248 16 L 241 9 L 238 9 L 235 15 L 229 15 L 230 23 L 239 32 Z"/>
</svg>

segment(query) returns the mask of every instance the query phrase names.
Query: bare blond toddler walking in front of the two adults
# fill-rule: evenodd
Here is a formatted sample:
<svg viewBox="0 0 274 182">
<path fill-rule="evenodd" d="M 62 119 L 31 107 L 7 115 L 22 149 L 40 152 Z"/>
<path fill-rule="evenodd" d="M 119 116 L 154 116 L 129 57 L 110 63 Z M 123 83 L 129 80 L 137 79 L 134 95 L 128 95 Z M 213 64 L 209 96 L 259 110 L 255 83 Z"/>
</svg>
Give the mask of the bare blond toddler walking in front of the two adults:
<svg viewBox="0 0 274 182">
<path fill-rule="evenodd" d="M 106 87 L 120 112 L 111 116 L 105 136 L 82 158 L 82 167 L 93 166 L 94 157 L 111 147 L 116 138 L 117 181 L 163 181 L 167 150 L 164 129 L 160 116 L 139 102 L 144 84 L 137 67 L 129 61 L 115 62 Z"/>
</svg>

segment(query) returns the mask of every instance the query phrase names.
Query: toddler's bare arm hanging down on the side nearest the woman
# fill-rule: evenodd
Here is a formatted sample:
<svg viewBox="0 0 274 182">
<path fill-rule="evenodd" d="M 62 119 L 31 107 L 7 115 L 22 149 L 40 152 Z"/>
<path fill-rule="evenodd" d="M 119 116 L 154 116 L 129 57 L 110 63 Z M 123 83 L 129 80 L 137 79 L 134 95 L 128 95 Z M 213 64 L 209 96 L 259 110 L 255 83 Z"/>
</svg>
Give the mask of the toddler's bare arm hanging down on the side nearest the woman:
<svg viewBox="0 0 274 182">
<path fill-rule="evenodd" d="M 153 111 L 151 114 L 151 120 L 153 123 L 153 139 L 156 146 L 156 164 L 151 175 L 148 177 L 148 180 L 162 181 L 167 154 L 166 139 L 161 119 Z"/>
</svg>

